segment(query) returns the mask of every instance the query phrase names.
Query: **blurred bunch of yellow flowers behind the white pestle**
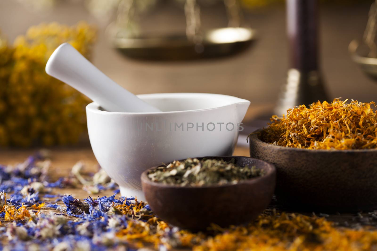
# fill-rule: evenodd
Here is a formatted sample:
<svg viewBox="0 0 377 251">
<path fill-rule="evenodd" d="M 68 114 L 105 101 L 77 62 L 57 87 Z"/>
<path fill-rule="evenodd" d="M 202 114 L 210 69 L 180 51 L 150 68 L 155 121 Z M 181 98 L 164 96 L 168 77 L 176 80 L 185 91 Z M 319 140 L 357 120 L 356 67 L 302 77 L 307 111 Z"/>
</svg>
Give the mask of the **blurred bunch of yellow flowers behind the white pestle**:
<svg viewBox="0 0 377 251">
<path fill-rule="evenodd" d="M 96 30 L 86 22 L 32 26 L 10 45 L 0 34 L 0 145 L 74 144 L 86 130 L 88 99 L 44 67 L 64 42 L 90 58 Z"/>
</svg>

